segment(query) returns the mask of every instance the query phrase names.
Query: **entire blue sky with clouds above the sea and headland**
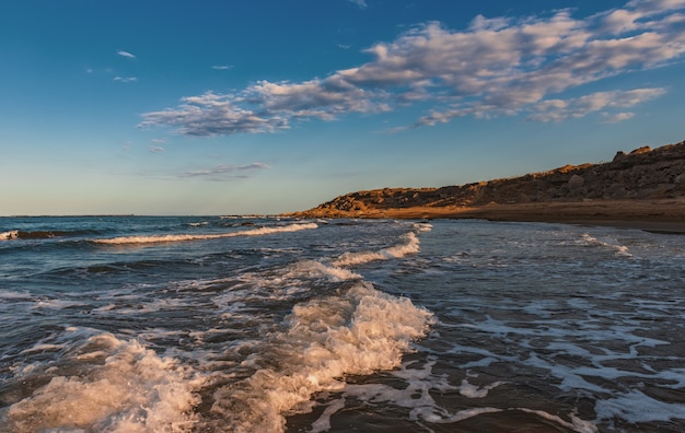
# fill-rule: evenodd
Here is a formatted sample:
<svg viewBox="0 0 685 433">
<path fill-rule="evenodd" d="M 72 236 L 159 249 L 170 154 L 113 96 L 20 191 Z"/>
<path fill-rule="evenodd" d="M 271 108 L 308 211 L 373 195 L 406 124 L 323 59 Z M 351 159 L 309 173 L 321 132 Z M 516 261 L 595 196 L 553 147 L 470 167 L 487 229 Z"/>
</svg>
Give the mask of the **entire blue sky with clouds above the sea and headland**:
<svg viewBox="0 0 685 433">
<path fill-rule="evenodd" d="M 279 213 L 608 161 L 685 140 L 684 54 L 685 0 L 4 2 L 0 215 Z"/>
</svg>

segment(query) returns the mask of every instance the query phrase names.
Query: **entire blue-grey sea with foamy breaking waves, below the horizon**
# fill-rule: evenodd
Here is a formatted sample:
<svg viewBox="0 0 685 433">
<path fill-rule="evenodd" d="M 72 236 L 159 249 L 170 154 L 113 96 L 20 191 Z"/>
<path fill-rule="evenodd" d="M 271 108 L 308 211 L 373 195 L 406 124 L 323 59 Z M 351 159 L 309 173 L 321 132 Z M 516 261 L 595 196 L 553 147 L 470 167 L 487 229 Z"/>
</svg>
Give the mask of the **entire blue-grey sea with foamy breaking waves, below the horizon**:
<svg viewBox="0 0 685 433">
<path fill-rule="evenodd" d="M 684 241 L 0 218 L 0 432 L 683 432 Z"/>
</svg>

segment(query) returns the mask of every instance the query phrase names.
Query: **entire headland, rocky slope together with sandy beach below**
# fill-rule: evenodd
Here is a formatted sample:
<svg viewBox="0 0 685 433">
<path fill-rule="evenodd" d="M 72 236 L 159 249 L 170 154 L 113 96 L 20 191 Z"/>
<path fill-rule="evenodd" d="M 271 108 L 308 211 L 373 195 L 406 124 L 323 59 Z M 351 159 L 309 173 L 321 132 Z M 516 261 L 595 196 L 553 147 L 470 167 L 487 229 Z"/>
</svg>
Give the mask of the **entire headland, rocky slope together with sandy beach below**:
<svg viewBox="0 0 685 433">
<path fill-rule="evenodd" d="M 590 223 L 683 233 L 685 141 L 520 177 L 351 192 L 289 215 Z"/>
</svg>

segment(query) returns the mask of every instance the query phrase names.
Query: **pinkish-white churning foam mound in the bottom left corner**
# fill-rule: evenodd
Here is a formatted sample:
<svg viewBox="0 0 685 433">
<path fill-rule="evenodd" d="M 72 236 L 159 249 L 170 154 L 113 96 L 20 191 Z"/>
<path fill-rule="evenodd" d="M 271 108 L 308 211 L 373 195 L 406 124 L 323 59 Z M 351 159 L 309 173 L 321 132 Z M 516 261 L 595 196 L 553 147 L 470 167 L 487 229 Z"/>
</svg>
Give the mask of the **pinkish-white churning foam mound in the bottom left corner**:
<svg viewBox="0 0 685 433">
<path fill-rule="evenodd" d="M 187 431 L 195 423 L 199 381 L 175 360 L 109 333 L 91 337 L 82 352 L 81 362 L 106 358 L 79 376 L 54 376 L 0 414 L 0 424 L 12 432 L 142 433 Z"/>
</svg>

